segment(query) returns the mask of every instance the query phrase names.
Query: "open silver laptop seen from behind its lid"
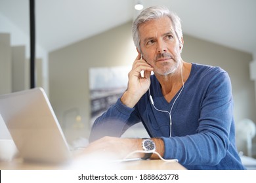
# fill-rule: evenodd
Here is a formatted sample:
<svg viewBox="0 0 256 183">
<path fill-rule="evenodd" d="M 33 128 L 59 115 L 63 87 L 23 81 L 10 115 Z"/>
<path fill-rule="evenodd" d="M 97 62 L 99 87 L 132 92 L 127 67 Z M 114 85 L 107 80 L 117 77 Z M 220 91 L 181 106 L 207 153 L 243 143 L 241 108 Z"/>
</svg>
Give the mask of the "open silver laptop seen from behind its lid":
<svg viewBox="0 0 256 183">
<path fill-rule="evenodd" d="M 43 88 L 0 95 L 0 114 L 25 161 L 66 163 L 72 159 Z"/>
</svg>

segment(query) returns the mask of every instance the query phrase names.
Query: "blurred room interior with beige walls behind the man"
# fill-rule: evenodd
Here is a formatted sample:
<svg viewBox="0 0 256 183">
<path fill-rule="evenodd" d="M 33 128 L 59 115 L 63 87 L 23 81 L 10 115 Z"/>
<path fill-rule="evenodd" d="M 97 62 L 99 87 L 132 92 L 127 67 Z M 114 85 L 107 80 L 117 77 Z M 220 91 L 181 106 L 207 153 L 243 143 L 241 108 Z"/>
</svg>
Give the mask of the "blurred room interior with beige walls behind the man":
<svg viewBox="0 0 256 183">
<path fill-rule="evenodd" d="M 125 90 L 137 57 L 131 25 L 138 3 L 179 15 L 184 61 L 228 72 L 238 150 L 255 157 L 254 0 L 35 0 L 35 85 L 47 93 L 68 142 L 86 141 L 96 116 Z M 29 4 L 0 0 L 0 94 L 30 88 Z M 124 137 L 146 135 L 137 125 Z"/>
</svg>

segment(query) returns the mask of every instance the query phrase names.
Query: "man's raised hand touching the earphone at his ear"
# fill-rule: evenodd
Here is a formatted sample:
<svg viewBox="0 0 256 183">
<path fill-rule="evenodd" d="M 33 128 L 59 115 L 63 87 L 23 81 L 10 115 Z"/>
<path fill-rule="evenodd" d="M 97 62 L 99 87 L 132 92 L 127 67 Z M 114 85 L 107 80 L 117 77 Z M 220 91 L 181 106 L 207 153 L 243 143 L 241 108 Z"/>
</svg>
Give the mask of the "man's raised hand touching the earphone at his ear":
<svg viewBox="0 0 256 183">
<path fill-rule="evenodd" d="M 139 99 L 146 93 L 150 85 L 150 74 L 154 68 L 149 65 L 144 59 L 140 59 L 140 54 L 133 62 L 133 67 L 129 72 L 129 82 L 127 90 L 121 97 L 121 102 L 127 107 L 134 107 Z M 140 72 L 144 71 L 144 77 Z"/>
</svg>

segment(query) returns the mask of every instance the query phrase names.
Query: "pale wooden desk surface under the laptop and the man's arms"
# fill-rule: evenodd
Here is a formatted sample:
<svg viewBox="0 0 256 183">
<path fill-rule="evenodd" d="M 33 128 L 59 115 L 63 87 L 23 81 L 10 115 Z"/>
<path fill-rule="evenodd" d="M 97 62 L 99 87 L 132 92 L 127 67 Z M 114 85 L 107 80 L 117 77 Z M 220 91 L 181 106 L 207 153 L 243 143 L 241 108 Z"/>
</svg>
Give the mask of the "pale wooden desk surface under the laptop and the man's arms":
<svg viewBox="0 0 256 183">
<path fill-rule="evenodd" d="M 28 163 L 22 159 L 12 161 L 1 161 L 1 170 L 72 170 L 72 169 L 116 169 L 116 170 L 182 170 L 185 169 L 178 162 L 165 162 L 160 159 L 154 160 L 134 160 L 123 162 L 85 162 L 80 159 L 65 165 L 51 165 L 42 163 Z"/>
</svg>

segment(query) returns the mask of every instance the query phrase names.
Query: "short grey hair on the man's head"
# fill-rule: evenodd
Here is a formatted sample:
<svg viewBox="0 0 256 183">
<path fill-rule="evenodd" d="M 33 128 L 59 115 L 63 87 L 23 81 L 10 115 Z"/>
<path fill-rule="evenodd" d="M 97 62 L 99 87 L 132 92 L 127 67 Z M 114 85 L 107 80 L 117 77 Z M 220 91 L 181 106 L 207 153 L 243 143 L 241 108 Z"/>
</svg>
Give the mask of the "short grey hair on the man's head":
<svg viewBox="0 0 256 183">
<path fill-rule="evenodd" d="M 182 29 L 181 29 L 181 19 L 177 14 L 174 12 L 171 12 L 166 7 L 149 7 L 145 10 L 142 10 L 142 12 L 139 14 L 139 16 L 135 19 L 132 26 L 132 32 L 133 32 L 133 42 L 135 43 L 136 48 L 140 50 L 140 35 L 139 35 L 139 26 L 145 22 L 148 22 L 150 20 L 154 20 L 157 18 L 162 18 L 164 16 L 167 16 L 170 18 L 171 23 L 173 24 L 175 33 L 179 39 L 179 42 L 181 43 L 182 39 Z"/>
</svg>

